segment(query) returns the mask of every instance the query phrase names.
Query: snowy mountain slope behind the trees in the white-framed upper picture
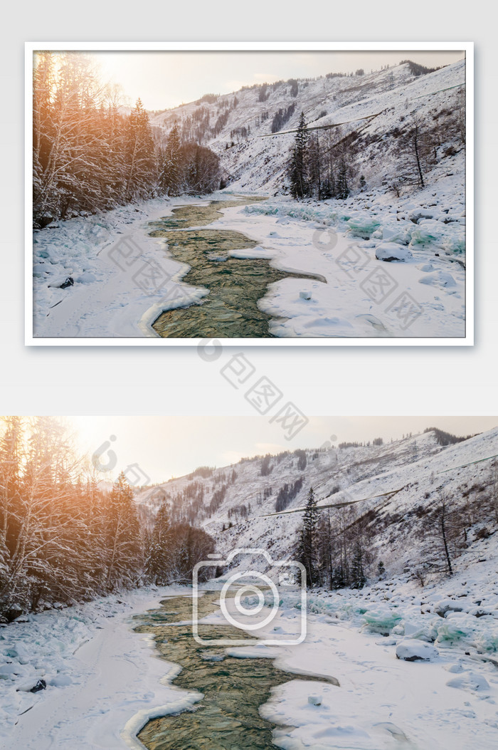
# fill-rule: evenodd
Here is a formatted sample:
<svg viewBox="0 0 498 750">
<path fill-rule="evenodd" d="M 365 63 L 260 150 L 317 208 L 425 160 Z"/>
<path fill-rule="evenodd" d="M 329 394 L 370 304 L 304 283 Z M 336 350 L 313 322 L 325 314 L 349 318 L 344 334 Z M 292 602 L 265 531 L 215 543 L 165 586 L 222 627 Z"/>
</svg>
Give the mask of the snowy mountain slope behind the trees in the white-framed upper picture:
<svg viewBox="0 0 498 750">
<path fill-rule="evenodd" d="M 206 95 L 151 115 L 151 124 L 169 131 L 177 123 L 183 137 L 209 145 L 221 157 L 231 190 L 276 195 L 285 190 L 294 135 L 261 136 L 295 129 L 304 112 L 309 127 L 341 123 L 344 136 L 354 133 L 357 180 L 363 175 L 368 187 L 389 186 L 397 176 L 395 153 L 410 115 L 421 115 L 434 127 L 448 115 L 455 124 L 464 121 L 464 60 L 429 74 L 415 72 L 420 71 L 405 62 L 354 77 L 279 81 Z M 377 116 L 360 119 L 371 115 Z M 463 175 L 464 154 L 450 146 L 443 142 L 437 149 L 436 176 Z"/>
</svg>

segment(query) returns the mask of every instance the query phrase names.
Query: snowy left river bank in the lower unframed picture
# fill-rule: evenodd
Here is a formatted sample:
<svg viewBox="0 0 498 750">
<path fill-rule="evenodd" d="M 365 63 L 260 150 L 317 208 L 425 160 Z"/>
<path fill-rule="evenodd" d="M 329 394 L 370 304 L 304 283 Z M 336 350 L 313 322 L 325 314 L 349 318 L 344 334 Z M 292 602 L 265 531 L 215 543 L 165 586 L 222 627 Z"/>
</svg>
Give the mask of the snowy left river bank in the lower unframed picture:
<svg viewBox="0 0 498 750">
<path fill-rule="evenodd" d="M 168 685 L 174 667 L 157 658 L 150 636 L 132 629 L 134 614 L 180 592 L 140 589 L 2 625 L 1 747 L 142 746 L 135 739 L 137 721 L 142 726 L 146 716 L 198 700 Z M 31 693 L 41 679 L 46 688 Z"/>
</svg>

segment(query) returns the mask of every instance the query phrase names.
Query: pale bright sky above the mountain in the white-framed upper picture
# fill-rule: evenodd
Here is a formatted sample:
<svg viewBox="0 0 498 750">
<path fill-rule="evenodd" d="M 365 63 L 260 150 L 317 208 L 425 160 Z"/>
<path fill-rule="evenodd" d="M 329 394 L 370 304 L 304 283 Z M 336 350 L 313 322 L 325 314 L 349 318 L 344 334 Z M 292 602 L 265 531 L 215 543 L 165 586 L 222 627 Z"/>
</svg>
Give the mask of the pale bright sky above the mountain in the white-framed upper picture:
<svg viewBox="0 0 498 750">
<path fill-rule="evenodd" d="M 118 83 L 126 104 L 142 99 L 147 110 L 166 110 L 204 94 L 228 94 L 241 86 L 289 78 L 315 78 L 327 73 L 380 70 L 410 59 L 429 68 L 448 65 L 464 52 L 106 52 L 89 53 L 100 65 L 103 80 Z"/>
</svg>

